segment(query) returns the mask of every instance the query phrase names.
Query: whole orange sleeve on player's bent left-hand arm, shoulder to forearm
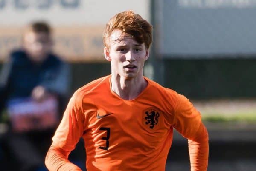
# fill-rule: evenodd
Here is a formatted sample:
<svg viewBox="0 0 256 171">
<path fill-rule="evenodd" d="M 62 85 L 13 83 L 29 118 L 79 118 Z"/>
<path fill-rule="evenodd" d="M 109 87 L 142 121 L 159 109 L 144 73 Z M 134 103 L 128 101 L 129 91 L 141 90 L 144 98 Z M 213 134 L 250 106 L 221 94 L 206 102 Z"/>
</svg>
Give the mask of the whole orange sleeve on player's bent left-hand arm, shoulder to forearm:
<svg viewBox="0 0 256 171">
<path fill-rule="evenodd" d="M 79 93 L 71 97 L 60 125 L 52 137 L 52 145 L 47 152 L 45 165 L 50 171 L 81 171 L 68 160 L 84 131 L 82 98 Z"/>
</svg>

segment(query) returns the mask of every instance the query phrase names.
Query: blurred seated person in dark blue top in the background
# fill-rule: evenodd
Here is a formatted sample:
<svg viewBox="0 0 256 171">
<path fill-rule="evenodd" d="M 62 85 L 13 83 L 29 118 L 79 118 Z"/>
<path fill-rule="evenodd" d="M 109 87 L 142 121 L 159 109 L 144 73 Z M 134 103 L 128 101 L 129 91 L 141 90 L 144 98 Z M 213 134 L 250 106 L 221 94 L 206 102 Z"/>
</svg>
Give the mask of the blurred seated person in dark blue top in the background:
<svg viewBox="0 0 256 171">
<path fill-rule="evenodd" d="M 9 115 L 4 144 L 15 170 L 36 171 L 44 166 L 51 137 L 69 90 L 70 69 L 52 53 L 52 30 L 37 21 L 27 26 L 22 47 L 10 54 L 0 75 L 0 111 Z M 61 112 L 62 113 L 62 112 Z"/>
</svg>

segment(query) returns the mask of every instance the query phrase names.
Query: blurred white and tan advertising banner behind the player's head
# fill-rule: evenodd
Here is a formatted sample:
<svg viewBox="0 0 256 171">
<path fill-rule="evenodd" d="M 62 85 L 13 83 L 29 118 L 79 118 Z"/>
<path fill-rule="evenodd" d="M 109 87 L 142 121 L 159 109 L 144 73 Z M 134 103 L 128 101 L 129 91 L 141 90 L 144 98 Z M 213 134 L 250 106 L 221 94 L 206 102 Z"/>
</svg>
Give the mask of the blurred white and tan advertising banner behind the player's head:
<svg viewBox="0 0 256 171">
<path fill-rule="evenodd" d="M 133 10 L 150 20 L 150 0 L 0 0 L 0 61 L 20 47 L 22 30 L 36 20 L 53 28 L 55 52 L 65 60 L 102 61 L 102 34 L 110 17 Z"/>
</svg>

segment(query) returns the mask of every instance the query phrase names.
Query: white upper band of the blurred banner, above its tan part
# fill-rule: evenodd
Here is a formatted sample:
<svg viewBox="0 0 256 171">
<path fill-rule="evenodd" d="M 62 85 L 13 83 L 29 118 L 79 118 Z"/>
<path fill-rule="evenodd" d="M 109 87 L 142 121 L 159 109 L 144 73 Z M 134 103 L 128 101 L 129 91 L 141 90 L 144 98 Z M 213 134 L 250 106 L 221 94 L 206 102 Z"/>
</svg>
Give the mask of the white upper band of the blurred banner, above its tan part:
<svg viewBox="0 0 256 171">
<path fill-rule="evenodd" d="M 129 0 L 125 6 L 122 0 L 0 0 L 0 28 L 25 26 L 34 20 L 46 20 L 54 27 L 99 26 L 125 10 L 150 20 L 150 0 Z"/>
</svg>

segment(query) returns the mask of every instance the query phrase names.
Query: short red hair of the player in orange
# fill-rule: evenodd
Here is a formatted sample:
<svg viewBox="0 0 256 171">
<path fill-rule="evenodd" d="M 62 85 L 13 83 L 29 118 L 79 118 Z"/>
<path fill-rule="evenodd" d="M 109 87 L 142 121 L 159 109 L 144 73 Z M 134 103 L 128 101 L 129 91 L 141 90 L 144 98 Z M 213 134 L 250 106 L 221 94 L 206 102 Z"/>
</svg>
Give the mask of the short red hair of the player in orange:
<svg viewBox="0 0 256 171">
<path fill-rule="evenodd" d="M 115 29 L 131 35 L 140 44 L 145 43 L 146 49 L 150 48 L 153 39 L 152 25 L 139 14 L 135 14 L 133 11 L 124 11 L 111 17 L 103 33 L 103 43 L 108 49 L 110 48 L 109 37 Z"/>
</svg>

